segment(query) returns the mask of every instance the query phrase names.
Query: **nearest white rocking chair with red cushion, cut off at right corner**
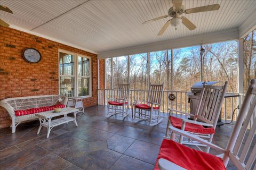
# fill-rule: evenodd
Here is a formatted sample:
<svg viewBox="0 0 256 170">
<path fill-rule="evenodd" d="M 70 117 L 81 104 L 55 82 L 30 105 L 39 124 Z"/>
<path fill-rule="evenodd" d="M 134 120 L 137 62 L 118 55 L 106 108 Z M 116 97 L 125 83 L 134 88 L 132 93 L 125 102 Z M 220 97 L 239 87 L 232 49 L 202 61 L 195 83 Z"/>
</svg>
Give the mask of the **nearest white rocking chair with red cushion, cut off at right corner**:
<svg viewBox="0 0 256 170">
<path fill-rule="evenodd" d="M 256 79 L 251 80 L 247 89 L 245 99 L 237 117 L 234 129 L 229 138 L 226 149 L 222 149 L 214 144 L 197 137 L 196 135 L 182 132 L 173 128 L 174 133 L 182 133 L 185 137 L 204 143 L 223 154 L 214 156 L 203 151 L 191 149 L 173 140 L 164 139 L 161 145 L 156 169 L 226 169 L 231 160 L 237 169 L 256 169 Z M 249 129 L 249 125 L 251 128 Z"/>
</svg>

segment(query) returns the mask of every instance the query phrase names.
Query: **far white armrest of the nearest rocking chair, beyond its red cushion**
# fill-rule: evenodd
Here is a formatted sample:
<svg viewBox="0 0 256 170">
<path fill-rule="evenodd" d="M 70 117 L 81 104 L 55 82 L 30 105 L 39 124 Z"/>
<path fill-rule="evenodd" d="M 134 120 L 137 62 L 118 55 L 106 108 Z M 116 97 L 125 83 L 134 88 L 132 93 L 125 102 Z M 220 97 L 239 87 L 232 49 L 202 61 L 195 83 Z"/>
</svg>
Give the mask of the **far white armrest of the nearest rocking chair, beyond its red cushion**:
<svg viewBox="0 0 256 170">
<path fill-rule="evenodd" d="M 207 141 L 207 140 L 205 140 L 203 138 L 197 137 L 194 134 L 188 133 L 188 132 L 180 130 L 178 128 L 174 128 L 173 126 L 169 126 L 169 129 L 171 129 L 171 131 L 174 132 L 174 133 L 179 133 L 179 134 L 183 135 L 186 138 L 190 138 L 192 140 L 200 142 L 200 143 L 202 143 L 202 144 L 204 144 L 204 145 L 206 145 L 206 146 L 208 146 L 210 148 L 213 148 L 215 150 L 219 150 L 222 153 L 224 153 L 226 151 L 225 149 L 223 149 L 223 148 L 221 148 L 221 147 L 219 147 L 217 145 L 214 145 L 213 143 L 211 143 L 211 142 L 209 142 L 209 141 Z"/>
</svg>

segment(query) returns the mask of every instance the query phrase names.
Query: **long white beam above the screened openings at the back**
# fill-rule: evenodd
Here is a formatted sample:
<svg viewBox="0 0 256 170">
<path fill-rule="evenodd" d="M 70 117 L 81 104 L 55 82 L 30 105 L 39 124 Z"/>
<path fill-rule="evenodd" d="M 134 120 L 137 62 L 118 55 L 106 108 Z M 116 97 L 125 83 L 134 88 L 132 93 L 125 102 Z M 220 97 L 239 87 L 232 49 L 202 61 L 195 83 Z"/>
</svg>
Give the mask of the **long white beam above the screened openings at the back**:
<svg viewBox="0 0 256 170">
<path fill-rule="evenodd" d="M 218 32 L 205 33 L 202 35 L 177 38 L 177 39 L 172 39 L 168 41 L 161 41 L 158 43 L 150 43 L 150 44 L 145 44 L 140 46 L 109 50 L 106 52 L 99 52 L 98 59 L 146 53 L 146 52 L 155 52 L 158 50 L 165 50 L 165 49 L 171 49 L 171 48 L 174 49 L 174 48 L 196 46 L 196 45 L 200 45 L 202 41 L 204 44 L 218 43 L 222 41 L 238 39 L 238 37 L 239 37 L 238 29 L 223 30 Z"/>
</svg>

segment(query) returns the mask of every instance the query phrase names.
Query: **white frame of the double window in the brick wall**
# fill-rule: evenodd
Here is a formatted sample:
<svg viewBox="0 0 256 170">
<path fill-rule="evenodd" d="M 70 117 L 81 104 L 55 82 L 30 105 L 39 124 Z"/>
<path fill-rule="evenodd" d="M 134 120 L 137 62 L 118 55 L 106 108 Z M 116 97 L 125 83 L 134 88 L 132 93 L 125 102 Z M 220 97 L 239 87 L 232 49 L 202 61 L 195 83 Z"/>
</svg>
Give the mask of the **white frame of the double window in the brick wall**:
<svg viewBox="0 0 256 170">
<path fill-rule="evenodd" d="M 74 55 L 74 75 L 60 75 L 60 52 L 61 53 L 67 53 L 67 54 L 71 54 Z M 90 61 L 90 65 L 89 65 L 89 70 L 90 70 L 90 75 L 89 76 L 78 76 L 78 56 L 80 57 L 85 57 L 88 58 Z M 85 97 L 85 98 L 89 98 L 92 97 L 92 57 L 83 55 L 83 54 L 79 54 L 79 53 L 74 53 L 74 52 L 70 52 L 68 50 L 65 49 L 59 49 L 58 50 L 58 73 L 59 73 L 59 78 L 60 77 L 74 77 L 75 78 L 75 84 L 74 84 L 74 97 L 78 97 L 78 77 L 80 78 L 89 78 L 89 95 L 87 96 L 79 96 L 79 97 Z M 60 94 L 60 83 L 59 83 L 59 94 Z"/>
</svg>

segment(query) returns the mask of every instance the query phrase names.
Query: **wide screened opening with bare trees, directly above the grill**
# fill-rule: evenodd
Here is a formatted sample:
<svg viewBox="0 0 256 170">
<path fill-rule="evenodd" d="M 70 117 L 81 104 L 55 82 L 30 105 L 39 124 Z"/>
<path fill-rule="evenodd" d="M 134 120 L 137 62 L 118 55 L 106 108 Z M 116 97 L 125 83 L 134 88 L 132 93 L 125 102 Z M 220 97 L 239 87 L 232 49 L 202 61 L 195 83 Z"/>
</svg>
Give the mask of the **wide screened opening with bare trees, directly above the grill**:
<svg viewBox="0 0 256 170">
<path fill-rule="evenodd" d="M 228 81 L 228 92 L 237 91 L 237 41 L 206 44 L 203 57 L 204 81 Z"/>
</svg>

